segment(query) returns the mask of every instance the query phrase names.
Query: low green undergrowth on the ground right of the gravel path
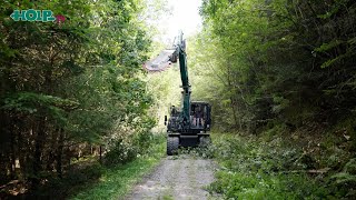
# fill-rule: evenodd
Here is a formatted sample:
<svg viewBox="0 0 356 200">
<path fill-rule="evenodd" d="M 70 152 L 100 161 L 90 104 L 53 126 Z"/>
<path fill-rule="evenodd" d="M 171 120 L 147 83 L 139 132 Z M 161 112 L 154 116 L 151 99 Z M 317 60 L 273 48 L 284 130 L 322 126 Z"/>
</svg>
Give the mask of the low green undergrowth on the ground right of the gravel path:
<svg viewBox="0 0 356 200">
<path fill-rule="evenodd" d="M 214 133 L 214 144 L 204 151 L 220 166 L 210 192 L 225 199 L 356 198 L 356 159 L 350 154 L 313 153 L 293 139 L 269 136 Z M 318 142 L 316 147 L 325 146 L 329 139 Z M 338 167 L 327 162 L 330 157 Z"/>
</svg>

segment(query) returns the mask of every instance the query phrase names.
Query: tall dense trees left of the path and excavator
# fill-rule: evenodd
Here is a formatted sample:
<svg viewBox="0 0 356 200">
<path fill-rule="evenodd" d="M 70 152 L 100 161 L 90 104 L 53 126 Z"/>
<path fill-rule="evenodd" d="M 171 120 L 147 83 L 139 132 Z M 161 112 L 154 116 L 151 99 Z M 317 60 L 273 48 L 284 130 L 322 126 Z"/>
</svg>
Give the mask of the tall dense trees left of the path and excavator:
<svg viewBox="0 0 356 200">
<path fill-rule="evenodd" d="M 17 180 L 22 192 L 37 190 L 61 178 L 73 158 L 106 153 L 103 163 L 122 163 L 147 150 L 155 120 L 139 78 L 150 44 L 141 4 L 1 2 L 1 184 Z M 10 18 L 31 8 L 66 21 Z"/>
</svg>

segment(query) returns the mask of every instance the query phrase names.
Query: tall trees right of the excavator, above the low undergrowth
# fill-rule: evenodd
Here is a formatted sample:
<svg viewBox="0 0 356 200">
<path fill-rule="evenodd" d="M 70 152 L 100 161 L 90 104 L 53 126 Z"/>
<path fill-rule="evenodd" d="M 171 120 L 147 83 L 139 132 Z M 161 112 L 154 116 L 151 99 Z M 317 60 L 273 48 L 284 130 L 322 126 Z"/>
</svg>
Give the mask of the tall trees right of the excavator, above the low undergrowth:
<svg viewBox="0 0 356 200">
<path fill-rule="evenodd" d="M 352 0 L 205 0 L 200 62 L 214 67 L 225 126 L 333 124 L 355 114 Z M 207 68 L 209 69 L 209 68 Z"/>
</svg>

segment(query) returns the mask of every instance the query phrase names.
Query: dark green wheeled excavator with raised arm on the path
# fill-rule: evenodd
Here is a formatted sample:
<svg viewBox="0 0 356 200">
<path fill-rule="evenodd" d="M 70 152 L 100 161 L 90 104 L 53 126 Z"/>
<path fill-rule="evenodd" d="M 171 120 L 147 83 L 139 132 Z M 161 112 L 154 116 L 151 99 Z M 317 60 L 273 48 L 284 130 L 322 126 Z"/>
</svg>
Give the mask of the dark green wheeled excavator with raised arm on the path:
<svg viewBox="0 0 356 200">
<path fill-rule="evenodd" d="M 157 59 L 146 63 L 149 71 L 161 71 L 171 62 L 179 61 L 182 106 L 180 109 L 171 106 L 168 124 L 165 116 L 168 156 L 175 154 L 179 147 L 206 147 L 210 143 L 207 131 L 211 126 L 211 107 L 208 102 L 190 101 L 191 86 L 188 79 L 186 41 L 182 39 L 181 31 L 177 38 L 172 49 L 162 51 Z"/>
</svg>

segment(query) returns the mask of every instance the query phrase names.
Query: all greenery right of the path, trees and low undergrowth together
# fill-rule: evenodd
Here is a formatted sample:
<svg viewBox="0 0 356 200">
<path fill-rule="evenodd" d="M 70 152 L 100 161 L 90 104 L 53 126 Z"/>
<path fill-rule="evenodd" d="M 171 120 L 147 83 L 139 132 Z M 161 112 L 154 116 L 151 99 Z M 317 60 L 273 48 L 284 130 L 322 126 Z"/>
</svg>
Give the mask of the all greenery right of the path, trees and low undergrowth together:
<svg viewBox="0 0 356 200">
<path fill-rule="evenodd" d="M 354 199 L 356 2 L 204 0 L 200 12 L 196 94 L 219 132 L 244 134 L 218 139 L 212 190 Z"/>
</svg>

